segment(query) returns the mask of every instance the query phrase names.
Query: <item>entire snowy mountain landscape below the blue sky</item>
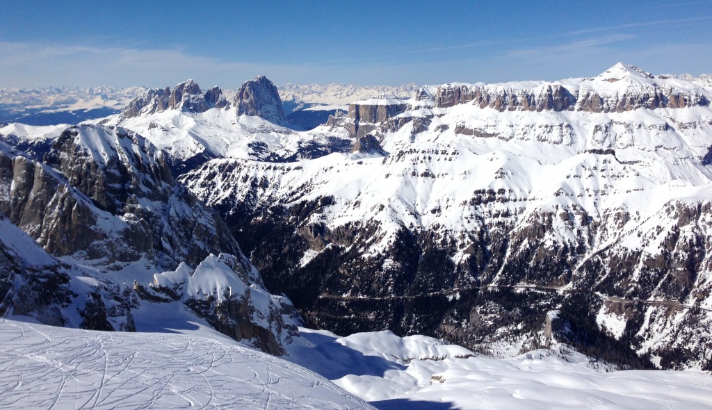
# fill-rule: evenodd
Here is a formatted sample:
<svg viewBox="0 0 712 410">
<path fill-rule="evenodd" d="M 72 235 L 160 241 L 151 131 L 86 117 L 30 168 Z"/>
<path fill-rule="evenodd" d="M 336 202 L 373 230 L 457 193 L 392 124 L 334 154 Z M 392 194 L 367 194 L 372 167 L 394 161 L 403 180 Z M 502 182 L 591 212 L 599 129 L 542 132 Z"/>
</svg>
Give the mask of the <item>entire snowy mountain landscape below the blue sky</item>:
<svg viewBox="0 0 712 410">
<path fill-rule="evenodd" d="M 709 75 L 0 96 L 4 408 L 712 406 Z"/>
</svg>

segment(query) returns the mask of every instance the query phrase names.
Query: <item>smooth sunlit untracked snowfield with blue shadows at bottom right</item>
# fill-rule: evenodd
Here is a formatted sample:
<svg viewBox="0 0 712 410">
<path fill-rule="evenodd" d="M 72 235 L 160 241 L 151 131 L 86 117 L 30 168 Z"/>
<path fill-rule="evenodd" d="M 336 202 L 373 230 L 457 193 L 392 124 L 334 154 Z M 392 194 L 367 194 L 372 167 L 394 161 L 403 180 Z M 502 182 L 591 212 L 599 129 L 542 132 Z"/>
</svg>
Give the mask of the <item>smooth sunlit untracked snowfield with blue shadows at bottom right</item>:
<svg viewBox="0 0 712 410">
<path fill-rule="evenodd" d="M 300 328 L 293 360 L 379 409 L 709 409 L 712 376 L 608 372 L 563 345 L 492 359 L 425 336 Z"/>
</svg>

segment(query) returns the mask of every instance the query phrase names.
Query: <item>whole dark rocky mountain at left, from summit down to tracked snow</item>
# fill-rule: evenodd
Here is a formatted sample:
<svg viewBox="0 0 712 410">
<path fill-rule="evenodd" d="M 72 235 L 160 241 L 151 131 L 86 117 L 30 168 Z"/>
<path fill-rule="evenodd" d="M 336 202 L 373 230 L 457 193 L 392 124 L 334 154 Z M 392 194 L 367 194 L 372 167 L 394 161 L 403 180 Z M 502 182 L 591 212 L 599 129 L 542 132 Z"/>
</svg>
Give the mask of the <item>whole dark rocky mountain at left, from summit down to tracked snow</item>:
<svg viewBox="0 0 712 410">
<path fill-rule="evenodd" d="M 134 132 L 70 127 L 42 162 L 0 141 L 0 223 L 5 316 L 94 330 L 203 322 L 274 354 L 298 337 L 290 301 Z"/>
</svg>

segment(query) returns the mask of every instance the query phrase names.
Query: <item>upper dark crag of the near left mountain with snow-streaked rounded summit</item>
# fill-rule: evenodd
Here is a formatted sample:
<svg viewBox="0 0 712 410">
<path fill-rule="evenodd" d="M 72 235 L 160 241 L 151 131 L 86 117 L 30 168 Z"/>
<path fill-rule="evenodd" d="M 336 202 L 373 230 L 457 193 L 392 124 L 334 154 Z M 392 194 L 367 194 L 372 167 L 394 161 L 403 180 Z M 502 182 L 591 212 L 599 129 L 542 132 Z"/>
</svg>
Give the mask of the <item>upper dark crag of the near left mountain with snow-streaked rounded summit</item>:
<svg viewBox="0 0 712 410">
<path fill-rule="evenodd" d="M 54 255 L 171 268 L 240 253 L 219 216 L 173 184 L 162 154 L 133 132 L 72 127 L 46 162 L 0 153 L 0 211 Z"/>
</svg>

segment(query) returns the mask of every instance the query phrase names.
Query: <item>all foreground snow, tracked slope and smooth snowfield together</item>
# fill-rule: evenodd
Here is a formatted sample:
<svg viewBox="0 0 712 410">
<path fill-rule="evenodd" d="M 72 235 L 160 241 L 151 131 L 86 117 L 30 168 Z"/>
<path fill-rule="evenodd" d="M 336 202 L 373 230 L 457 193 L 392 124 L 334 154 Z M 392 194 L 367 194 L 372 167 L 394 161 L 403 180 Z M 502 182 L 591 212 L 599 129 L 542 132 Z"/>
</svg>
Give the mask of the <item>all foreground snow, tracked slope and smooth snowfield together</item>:
<svg viewBox="0 0 712 410">
<path fill-rule="evenodd" d="M 310 346 L 291 346 L 288 362 L 221 335 L 182 332 L 0 319 L 0 408 L 372 408 L 361 399 L 378 409 L 712 406 L 709 374 L 597 369 L 566 347 L 493 359 L 431 337 L 301 328 Z"/>
</svg>

